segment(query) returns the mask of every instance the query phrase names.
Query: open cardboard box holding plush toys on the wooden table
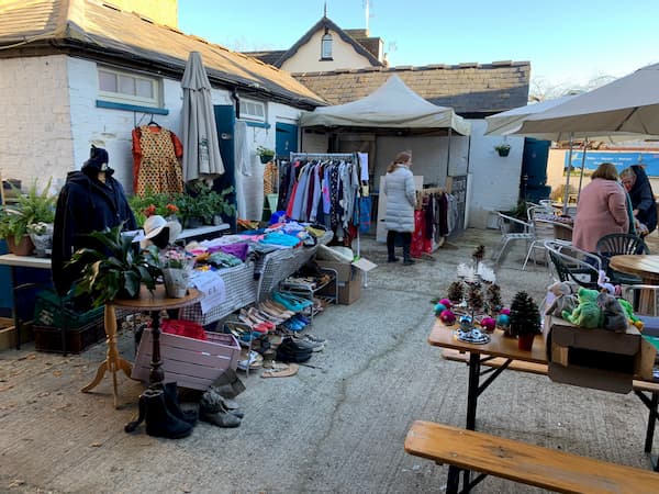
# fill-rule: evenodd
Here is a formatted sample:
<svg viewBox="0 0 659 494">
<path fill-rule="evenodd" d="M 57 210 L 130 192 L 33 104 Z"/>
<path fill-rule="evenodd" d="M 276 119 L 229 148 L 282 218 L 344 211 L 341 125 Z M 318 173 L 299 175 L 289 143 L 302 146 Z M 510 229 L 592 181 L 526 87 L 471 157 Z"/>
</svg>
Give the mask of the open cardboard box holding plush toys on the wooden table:
<svg viewBox="0 0 659 494">
<path fill-rule="evenodd" d="M 546 324 L 552 381 L 615 393 L 632 391 L 641 367 L 641 337 L 634 326 L 626 333 L 587 329 L 552 316 Z"/>
</svg>

